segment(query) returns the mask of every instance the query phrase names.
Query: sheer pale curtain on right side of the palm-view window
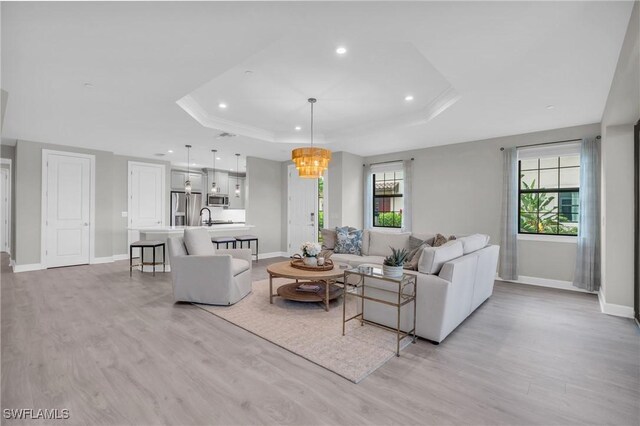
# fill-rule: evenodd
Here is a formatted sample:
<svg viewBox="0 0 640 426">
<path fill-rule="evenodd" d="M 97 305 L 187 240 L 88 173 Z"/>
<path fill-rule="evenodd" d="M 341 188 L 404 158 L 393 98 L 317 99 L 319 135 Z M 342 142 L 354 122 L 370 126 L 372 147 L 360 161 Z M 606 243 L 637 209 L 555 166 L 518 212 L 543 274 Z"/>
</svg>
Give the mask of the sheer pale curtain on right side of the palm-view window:
<svg viewBox="0 0 640 426">
<path fill-rule="evenodd" d="M 580 150 L 578 252 L 573 285 L 600 289 L 600 144 L 583 139 Z"/>
</svg>

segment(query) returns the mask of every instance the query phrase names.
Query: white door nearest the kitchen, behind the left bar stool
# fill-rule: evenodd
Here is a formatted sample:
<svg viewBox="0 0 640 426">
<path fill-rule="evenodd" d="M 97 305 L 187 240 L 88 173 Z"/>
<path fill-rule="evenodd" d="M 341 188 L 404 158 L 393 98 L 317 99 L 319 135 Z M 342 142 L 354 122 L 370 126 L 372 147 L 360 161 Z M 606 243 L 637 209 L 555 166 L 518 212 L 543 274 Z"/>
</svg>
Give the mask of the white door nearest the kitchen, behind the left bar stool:
<svg viewBox="0 0 640 426">
<path fill-rule="evenodd" d="M 129 228 L 164 225 L 165 167 L 162 164 L 129 162 Z M 129 230 L 129 244 L 140 232 Z M 137 253 L 136 253 L 137 254 Z"/>
</svg>

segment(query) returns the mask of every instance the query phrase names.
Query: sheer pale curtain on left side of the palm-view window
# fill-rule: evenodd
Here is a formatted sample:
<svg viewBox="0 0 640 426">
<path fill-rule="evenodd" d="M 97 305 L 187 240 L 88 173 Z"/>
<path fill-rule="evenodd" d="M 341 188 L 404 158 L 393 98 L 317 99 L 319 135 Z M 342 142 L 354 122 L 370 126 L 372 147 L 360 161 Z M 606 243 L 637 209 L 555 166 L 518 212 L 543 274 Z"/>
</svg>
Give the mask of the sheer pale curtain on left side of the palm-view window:
<svg viewBox="0 0 640 426">
<path fill-rule="evenodd" d="M 503 280 L 518 279 L 518 151 L 505 148 L 503 155 L 500 268 Z"/>
</svg>

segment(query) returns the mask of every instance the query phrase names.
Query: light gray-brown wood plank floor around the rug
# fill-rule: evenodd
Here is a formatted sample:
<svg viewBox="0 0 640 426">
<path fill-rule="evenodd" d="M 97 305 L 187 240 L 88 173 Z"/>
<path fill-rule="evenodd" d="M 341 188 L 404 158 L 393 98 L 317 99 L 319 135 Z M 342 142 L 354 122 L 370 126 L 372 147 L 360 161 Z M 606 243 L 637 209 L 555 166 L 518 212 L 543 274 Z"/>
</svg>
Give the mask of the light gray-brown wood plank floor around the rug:
<svg viewBox="0 0 640 426">
<path fill-rule="evenodd" d="M 78 425 L 640 421 L 638 329 L 592 295 L 497 282 L 441 345 L 410 345 L 355 385 L 174 304 L 169 274 L 129 278 L 126 261 L 12 274 L 7 261 L 3 409 L 68 408 Z"/>
</svg>

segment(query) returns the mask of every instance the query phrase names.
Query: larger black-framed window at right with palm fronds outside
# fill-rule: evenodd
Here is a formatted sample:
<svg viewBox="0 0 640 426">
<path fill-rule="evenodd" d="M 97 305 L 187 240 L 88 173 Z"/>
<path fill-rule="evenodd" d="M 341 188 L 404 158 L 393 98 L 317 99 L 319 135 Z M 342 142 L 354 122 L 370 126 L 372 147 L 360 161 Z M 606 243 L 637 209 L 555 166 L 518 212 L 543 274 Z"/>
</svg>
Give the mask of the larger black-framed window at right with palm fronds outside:
<svg viewBox="0 0 640 426">
<path fill-rule="evenodd" d="M 578 235 L 580 156 L 521 158 L 521 234 Z"/>
</svg>

